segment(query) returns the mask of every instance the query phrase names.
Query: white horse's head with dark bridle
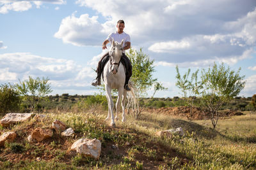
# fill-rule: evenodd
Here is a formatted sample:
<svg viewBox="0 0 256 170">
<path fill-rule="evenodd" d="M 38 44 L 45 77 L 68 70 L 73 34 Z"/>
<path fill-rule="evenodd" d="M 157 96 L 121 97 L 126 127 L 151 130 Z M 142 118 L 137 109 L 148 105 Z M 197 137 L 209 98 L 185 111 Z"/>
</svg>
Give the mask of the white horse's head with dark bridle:
<svg viewBox="0 0 256 170">
<path fill-rule="evenodd" d="M 109 51 L 109 59 L 110 59 L 110 64 L 111 64 L 111 71 L 113 74 L 116 74 L 118 71 L 118 66 L 120 64 L 120 59 L 122 57 L 122 46 L 123 46 L 123 41 L 121 43 L 114 42 L 112 40 L 111 48 Z"/>
</svg>

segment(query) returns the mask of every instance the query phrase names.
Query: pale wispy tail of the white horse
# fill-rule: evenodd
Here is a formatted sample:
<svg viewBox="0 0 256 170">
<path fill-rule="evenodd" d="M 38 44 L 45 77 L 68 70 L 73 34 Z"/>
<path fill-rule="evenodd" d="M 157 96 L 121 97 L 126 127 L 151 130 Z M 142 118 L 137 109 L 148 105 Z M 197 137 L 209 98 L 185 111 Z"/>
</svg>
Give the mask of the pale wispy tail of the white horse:
<svg viewBox="0 0 256 170">
<path fill-rule="evenodd" d="M 129 81 L 129 87 L 130 91 L 127 93 L 127 114 L 129 114 L 130 109 L 132 110 L 132 114 L 137 119 L 140 116 L 140 101 L 138 97 L 138 89 L 136 89 L 134 83 L 132 81 Z"/>
</svg>

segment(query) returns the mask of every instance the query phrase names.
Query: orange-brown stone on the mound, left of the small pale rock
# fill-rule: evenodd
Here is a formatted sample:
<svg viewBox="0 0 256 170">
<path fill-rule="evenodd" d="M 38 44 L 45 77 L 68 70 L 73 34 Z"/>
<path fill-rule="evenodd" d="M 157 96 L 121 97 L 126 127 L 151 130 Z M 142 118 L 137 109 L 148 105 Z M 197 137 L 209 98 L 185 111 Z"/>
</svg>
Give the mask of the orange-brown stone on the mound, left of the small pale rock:
<svg viewBox="0 0 256 170">
<path fill-rule="evenodd" d="M 52 137 L 52 130 L 51 129 L 41 129 L 41 128 L 36 128 L 32 133 L 31 133 L 31 141 L 33 139 L 36 139 L 36 141 L 43 141 L 44 139 L 51 138 Z"/>
</svg>

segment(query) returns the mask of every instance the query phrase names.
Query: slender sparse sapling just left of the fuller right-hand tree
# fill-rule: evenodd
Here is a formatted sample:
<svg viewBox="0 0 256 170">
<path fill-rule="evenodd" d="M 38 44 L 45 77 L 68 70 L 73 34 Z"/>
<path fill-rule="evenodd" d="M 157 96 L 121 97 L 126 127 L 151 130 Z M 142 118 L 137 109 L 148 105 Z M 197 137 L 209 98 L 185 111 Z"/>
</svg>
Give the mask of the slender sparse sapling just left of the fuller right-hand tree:
<svg viewBox="0 0 256 170">
<path fill-rule="evenodd" d="M 177 81 L 175 85 L 182 91 L 182 96 L 184 97 L 186 103 L 189 105 L 189 119 L 192 120 L 194 100 L 195 97 L 201 93 L 200 90 L 202 89 L 202 82 L 198 81 L 197 74 L 199 70 L 196 70 L 195 73 L 192 73 L 189 78 L 190 71 L 191 70 L 188 69 L 188 72 L 181 76 L 179 73 L 179 66 L 176 66 Z"/>
</svg>

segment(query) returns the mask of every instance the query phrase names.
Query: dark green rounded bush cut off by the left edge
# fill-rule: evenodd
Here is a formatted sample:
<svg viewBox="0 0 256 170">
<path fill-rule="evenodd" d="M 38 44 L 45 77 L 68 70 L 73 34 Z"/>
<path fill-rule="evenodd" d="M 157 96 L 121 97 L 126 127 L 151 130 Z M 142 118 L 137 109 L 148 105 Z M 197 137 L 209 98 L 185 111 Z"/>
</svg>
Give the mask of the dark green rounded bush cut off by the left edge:
<svg viewBox="0 0 256 170">
<path fill-rule="evenodd" d="M 0 113 L 19 110 L 20 97 L 13 85 L 4 84 L 0 86 Z"/>
</svg>

